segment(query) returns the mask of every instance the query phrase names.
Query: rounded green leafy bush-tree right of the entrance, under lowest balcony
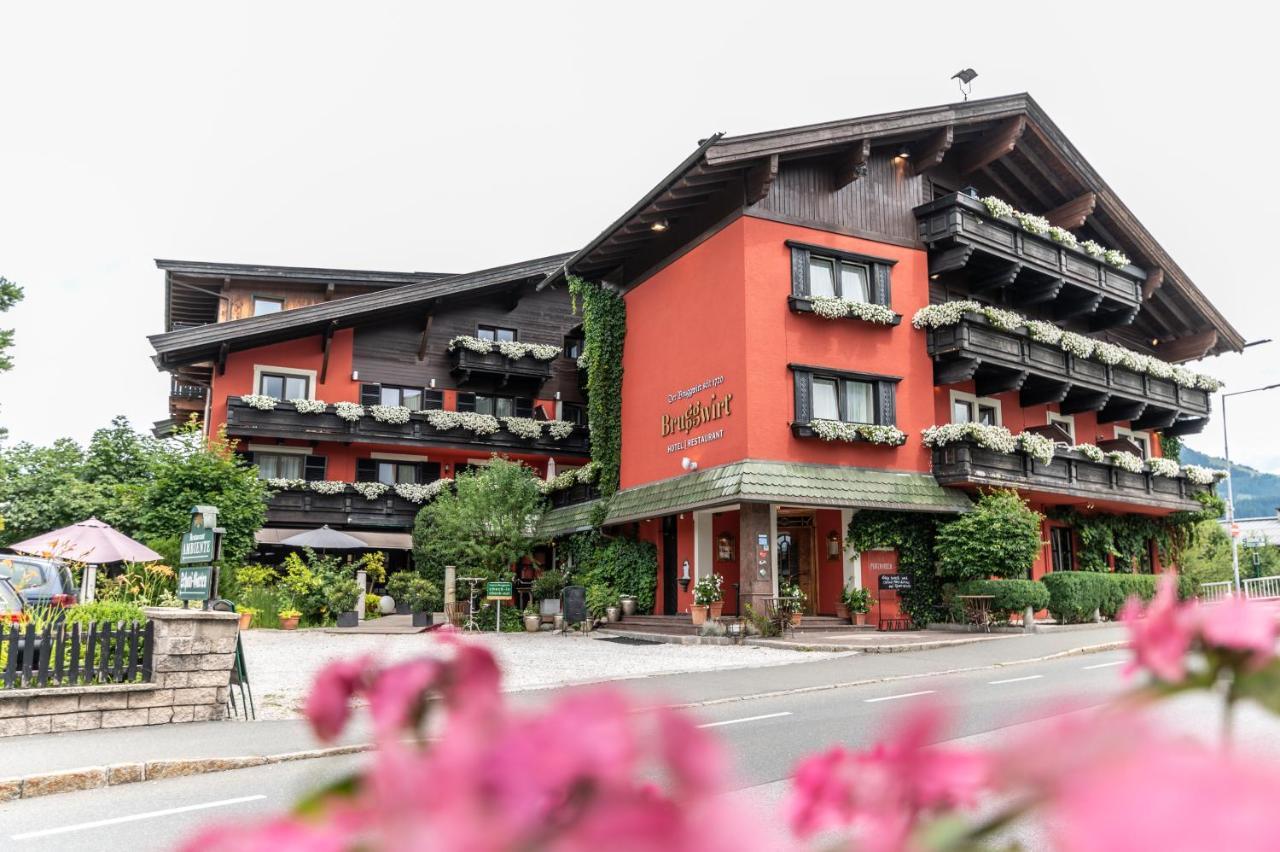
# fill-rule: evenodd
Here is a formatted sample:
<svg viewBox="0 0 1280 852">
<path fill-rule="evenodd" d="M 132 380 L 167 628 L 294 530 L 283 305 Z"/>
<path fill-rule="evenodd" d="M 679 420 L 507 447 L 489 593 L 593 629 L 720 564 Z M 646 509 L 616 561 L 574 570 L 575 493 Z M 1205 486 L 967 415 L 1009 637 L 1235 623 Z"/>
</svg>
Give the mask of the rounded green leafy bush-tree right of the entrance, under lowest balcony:
<svg viewBox="0 0 1280 852">
<path fill-rule="evenodd" d="M 973 512 L 938 527 L 938 574 L 952 581 L 1030 577 L 1043 521 L 1016 491 L 983 494 Z"/>
</svg>

